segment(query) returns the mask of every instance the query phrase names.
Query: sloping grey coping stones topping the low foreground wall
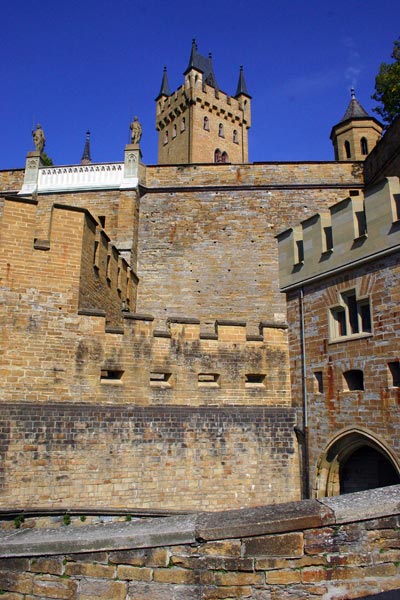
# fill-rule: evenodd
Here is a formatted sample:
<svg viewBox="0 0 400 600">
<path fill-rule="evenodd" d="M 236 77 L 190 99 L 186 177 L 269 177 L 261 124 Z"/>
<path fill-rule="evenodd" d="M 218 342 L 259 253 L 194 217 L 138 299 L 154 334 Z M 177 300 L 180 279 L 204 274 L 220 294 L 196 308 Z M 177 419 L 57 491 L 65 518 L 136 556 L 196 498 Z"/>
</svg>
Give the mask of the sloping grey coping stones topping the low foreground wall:
<svg viewBox="0 0 400 600">
<path fill-rule="evenodd" d="M 127 550 L 254 537 L 400 513 L 400 485 L 344 496 L 132 522 L 0 531 L 0 557 Z"/>
</svg>

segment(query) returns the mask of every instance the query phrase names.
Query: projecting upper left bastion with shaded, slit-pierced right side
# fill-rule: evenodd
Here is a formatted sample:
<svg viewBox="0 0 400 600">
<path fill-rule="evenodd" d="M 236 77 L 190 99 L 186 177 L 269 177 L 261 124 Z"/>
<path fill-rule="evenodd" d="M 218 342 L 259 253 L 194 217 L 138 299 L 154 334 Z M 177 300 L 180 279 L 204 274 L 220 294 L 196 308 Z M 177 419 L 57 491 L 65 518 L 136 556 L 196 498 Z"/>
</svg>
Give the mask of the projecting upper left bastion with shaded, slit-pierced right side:
<svg viewBox="0 0 400 600">
<path fill-rule="evenodd" d="M 114 324 L 121 305 L 134 309 L 137 276 L 86 209 L 17 196 L 2 204 L 10 302 L 33 293 L 43 308 L 101 309 Z"/>
</svg>

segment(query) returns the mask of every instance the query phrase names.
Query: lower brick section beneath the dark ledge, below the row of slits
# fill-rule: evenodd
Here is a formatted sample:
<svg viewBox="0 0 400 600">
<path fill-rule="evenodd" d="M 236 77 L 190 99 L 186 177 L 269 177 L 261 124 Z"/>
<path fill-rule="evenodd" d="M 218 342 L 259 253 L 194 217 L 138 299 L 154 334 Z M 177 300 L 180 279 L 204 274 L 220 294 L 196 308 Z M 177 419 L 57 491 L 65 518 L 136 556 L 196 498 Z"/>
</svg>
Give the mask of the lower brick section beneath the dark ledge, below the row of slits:
<svg viewBox="0 0 400 600">
<path fill-rule="evenodd" d="M 0 504 L 221 510 L 298 499 L 294 419 L 289 408 L 3 404 Z"/>
</svg>

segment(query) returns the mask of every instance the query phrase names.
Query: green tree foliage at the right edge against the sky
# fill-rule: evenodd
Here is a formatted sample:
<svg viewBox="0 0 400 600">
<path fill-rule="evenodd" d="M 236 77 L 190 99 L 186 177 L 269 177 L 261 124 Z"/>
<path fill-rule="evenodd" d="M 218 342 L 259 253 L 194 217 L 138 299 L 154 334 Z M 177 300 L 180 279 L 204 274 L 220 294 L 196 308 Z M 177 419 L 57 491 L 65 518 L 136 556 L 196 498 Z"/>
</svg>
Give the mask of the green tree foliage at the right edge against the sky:
<svg viewBox="0 0 400 600">
<path fill-rule="evenodd" d="M 400 38 L 394 42 L 393 63 L 382 63 L 375 78 L 373 100 L 380 102 L 373 110 L 390 125 L 400 115 Z"/>
</svg>

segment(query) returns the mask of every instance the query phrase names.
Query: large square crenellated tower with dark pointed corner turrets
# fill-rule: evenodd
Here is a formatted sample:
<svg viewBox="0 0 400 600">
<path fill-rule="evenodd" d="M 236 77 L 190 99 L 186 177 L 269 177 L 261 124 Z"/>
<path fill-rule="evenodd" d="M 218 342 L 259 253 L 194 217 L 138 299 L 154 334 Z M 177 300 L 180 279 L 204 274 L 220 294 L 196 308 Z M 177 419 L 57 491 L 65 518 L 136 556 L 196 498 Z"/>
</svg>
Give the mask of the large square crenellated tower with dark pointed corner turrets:
<svg viewBox="0 0 400 600">
<path fill-rule="evenodd" d="M 166 68 L 156 98 L 159 164 L 246 163 L 250 101 L 243 67 L 234 96 L 221 91 L 211 54 L 192 43 L 184 84 L 169 91 Z"/>
</svg>

